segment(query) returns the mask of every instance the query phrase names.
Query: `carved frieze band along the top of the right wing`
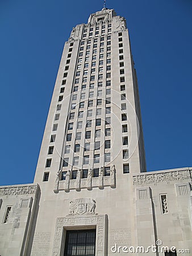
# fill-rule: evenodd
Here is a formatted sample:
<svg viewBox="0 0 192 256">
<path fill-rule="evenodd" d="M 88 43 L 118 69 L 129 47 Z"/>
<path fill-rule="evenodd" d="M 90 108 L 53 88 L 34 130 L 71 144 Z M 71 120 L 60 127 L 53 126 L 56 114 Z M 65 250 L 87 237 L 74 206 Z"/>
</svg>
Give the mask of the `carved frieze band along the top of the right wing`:
<svg viewBox="0 0 192 256">
<path fill-rule="evenodd" d="M 191 180 L 190 170 L 157 172 L 157 174 L 133 175 L 133 185 L 153 184 L 160 182 L 169 182 L 177 180 Z"/>
</svg>

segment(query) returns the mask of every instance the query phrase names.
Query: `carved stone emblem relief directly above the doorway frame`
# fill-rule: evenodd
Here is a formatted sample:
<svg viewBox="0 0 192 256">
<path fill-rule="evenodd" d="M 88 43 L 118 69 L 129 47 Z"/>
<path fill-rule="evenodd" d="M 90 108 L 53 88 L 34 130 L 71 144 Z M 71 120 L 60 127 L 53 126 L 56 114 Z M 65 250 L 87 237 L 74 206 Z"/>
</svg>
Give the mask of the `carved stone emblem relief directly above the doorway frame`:
<svg viewBox="0 0 192 256">
<path fill-rule="evenodd" d="M 69 214 L 95 213 L 95 200 L 90 198 L 79 198 L 69 202 Z"/>
</svg>

